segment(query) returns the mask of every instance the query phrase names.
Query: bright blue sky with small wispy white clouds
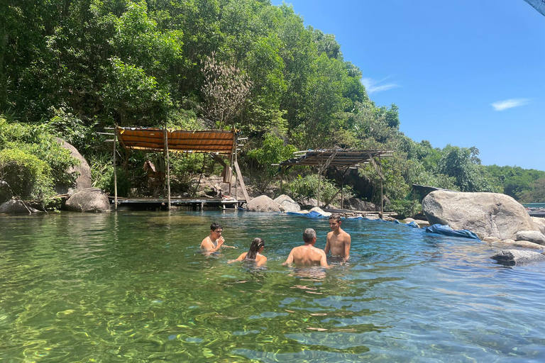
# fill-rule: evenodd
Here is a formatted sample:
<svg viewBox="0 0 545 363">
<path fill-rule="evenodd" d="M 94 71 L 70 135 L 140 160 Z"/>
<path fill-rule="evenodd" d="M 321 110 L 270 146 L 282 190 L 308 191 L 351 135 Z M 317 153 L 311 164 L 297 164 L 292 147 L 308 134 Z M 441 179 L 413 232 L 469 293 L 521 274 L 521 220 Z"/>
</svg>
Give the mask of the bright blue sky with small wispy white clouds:
<svg viewBox="0 0 545 363">
<path fill-rule="evenodd" d="M 545 170 L 545 16 L 524 0 L 285 2 L 336 35 L 370 98 L 399 106 L 409 138 Z"/>
</svg>

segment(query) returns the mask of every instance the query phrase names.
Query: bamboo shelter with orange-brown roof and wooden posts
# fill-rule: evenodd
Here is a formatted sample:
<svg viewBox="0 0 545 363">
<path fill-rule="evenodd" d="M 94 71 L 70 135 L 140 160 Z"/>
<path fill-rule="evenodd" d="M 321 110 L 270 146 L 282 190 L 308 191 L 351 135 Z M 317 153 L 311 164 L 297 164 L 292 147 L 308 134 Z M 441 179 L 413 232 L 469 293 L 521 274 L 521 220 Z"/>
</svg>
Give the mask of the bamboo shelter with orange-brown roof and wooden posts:
<svg viewBox="0 0 545 363">
<path fill-rule="evenodd" d="M 114 180 L 116 182 L 116 141 L 127 150 L 143 150 L 148 152 L 163 152 L 165 155 L 165 169 L 167 177 L 168 208 L 170 208 L 170 152 L 207 153 L 224 166 L 224 181 L 229 183 L 231 190 L 231 167 L 223 158 L 229 157 L 231 165 L 236 169 L 236 179 L 246 198 L 249 200 L 246 186 L 238 167 L 236 146 L 238 133 L 236 130 L 167 130 L 165 128 L 111 128 L 114 133 Z M 114 189 L 115 205 L 117 208 L 117 186 Z"/>
</svg>

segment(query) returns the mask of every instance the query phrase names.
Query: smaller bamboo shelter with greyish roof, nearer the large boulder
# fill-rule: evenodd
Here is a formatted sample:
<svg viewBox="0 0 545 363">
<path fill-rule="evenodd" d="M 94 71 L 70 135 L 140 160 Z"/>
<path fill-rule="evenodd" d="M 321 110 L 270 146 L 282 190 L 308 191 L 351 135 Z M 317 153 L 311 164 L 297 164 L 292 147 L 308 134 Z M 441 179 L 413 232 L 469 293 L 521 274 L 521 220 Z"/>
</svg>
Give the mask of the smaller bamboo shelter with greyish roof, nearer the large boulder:
<svg viewBox="0 0 545 363">
<path fill-rule="evenodd" d="M 280 167 L 297 167 L 297 166 L 309 166 L 319 167 L 318 169 L 318 206 L 320 204 L 320 181 L 321 174 L 323 174 L 329 167 L 335 167 L 337 172 L 341 176 L 341 189 L 334 195 L 337 196 L 341 193 L 341 208 L 343 208 L 344 199 L 344 176 L 348 169 L 357 169 L 361 164 L 371 163 L 380 177 L 380 213 L 384 213 L 384 206 L 382 202 L 382 183 L 384 176 L 382 175 L 382 167 L 380 160 L 382 157 L 391 157 L 392 151 L 386 150 L 307 150 L 294 152 L 295 157 L 290 160 L 280 162 Z"/>
</svg>

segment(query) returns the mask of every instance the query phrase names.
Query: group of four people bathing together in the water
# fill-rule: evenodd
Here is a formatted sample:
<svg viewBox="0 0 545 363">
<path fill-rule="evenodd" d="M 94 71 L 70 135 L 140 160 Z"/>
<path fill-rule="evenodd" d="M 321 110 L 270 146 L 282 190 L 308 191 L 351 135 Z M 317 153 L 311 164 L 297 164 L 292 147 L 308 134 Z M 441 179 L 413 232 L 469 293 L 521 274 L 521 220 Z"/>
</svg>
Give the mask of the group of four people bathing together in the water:
<svg viewBox="0 0 545 363">
<path fill-rule="evenodd" d="M 314 247 L 316 245 L 316 231 L 312 228 L 307 228 L 303 232 L 304 245 L 292 248 L 290 255 L 287 257 L 286 264 L 296 264 L 297 266 L 321 266 L 329 267 L 327 264 L 327 255 L 331 252 L 331 257 L 342 258 L 348 260 L 350 258 L 351 237 L 341 228 L 341 216 L 337 213 L 329 216 L 329 228 L 331 232 L 327 234 L 326 247 L 324 250 Z M 216 252 L 221 247 L 229 247 L 224 244 L 225 239 L 221 235 L 223 227 L 219 223 L 210 225 L 210 235 L 204 238 L 201 242 L 201 250 L 204 252 Z M 236 262 L 243 260 L 255 261 L 257 266 L 261 266 L 267 262 L 267 257 L 263 256 L 265 241 L 263 238 L 254 238 L 248 252 L 242 253 L 237 259 L 228 261 Z"/>
</svg>

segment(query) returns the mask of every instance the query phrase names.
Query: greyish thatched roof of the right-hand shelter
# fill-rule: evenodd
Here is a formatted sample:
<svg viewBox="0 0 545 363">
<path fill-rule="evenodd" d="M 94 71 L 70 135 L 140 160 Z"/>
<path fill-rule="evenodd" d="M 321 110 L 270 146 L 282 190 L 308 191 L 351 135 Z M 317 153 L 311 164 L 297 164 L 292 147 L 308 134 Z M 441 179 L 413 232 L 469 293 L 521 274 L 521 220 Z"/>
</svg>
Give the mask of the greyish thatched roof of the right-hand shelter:
<svg viewBox="0 0 545 363">
<path fill-rule="evenodd" d="M 374 162 L 375 157 L 392 156 L 392 151 L 385 150 L 309 150 L 300 157 L 280 162 L 280 167 L 287 166 L 322 166 L 352 167 L 365 162 Z M 328 163 L 329 161 L 329 163 Z"/>
</svg>

